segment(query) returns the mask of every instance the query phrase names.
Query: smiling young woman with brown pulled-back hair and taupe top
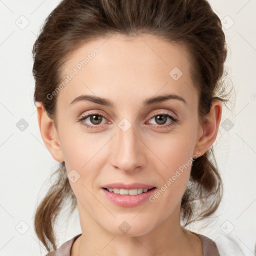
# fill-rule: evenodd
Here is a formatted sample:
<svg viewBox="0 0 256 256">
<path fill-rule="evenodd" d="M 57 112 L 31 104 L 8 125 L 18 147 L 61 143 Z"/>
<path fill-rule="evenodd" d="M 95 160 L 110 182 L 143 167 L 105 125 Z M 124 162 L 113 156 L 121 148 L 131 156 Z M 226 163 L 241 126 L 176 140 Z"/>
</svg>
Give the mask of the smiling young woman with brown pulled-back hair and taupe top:
<svg viewBox="0 0 256 256">
<path fill-rule="evenodd" d="M 33 46 L 38 124 L 60 162 L 34 219 L 47 255 L 220 254 L 185 226 L 222 195 L 210 156 L 226 54 L 205 0 L 63 0 L 49 14 Z M 67 198 L 82 232 L 57 249 Z"/>
</svg>

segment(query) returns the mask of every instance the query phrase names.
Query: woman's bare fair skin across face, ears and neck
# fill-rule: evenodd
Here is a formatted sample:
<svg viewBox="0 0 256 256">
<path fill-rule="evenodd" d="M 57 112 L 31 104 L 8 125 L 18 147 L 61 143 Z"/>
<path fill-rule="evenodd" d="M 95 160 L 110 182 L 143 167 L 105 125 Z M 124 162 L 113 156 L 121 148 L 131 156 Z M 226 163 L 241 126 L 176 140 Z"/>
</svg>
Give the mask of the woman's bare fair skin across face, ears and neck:
<svg viewBox="0 0 256 256">
<path fill-rule="evenodd" d="M 143 182 L 161 188 L 189 157 L 204 154 L 212 145 L 221 101 L 212 101 L 201 125 L 198 92 L 184 48 L 148 34 L 107 38 L 90 41 L 69 55 L 62 69 L 66 75 L 94 48 L 99 50 L 58 92 L 55 125 L 37 103 L 38 124 L 49 152 L 56 161 L 65 162 L 67 173 L 75 169 L 80 175 L 74 183 L 69 180 L 82 231 L 71 255 L 200 255 L 200 239 L 180 226 L 180 202 L 191 165 L 154 202 L 135 207 L 113 204 L 100 187 L 110 182 Z M 169 75 L 175 66 L 182 71 L 178 80 Z M 186 103 L 168 99 L 142 106 L 145 98 L 165 93 L 182 96 Z M 114 107 L 90 101 L 69 104 L 81 94 L 107 98 Z M 161 124 L 153 117 L 163 111 L 178 121 L 162 127 L 172 122 L 167 117 Z M 87 113 L 104 118 L 99 124 L 89 117 L 78 121 Z M 126 131 L 118 126 L 124 117 L 131 124 Z M 81 124 L 86 121 L 97 128 Z M 131 227 L 125 234 L 118 228 L 123 221 Z"/>
</svg>

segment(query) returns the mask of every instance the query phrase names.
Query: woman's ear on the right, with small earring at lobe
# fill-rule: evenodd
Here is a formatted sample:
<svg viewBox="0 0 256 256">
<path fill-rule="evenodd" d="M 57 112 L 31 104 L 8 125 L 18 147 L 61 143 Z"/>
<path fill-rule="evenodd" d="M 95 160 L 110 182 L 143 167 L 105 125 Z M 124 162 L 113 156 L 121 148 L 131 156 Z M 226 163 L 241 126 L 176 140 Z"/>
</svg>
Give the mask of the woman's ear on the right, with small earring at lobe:
<svg viewBox="0 0 256 256">
<path fill-rule="evenodd" d="M 222 102 L 213 98 L 209 113 L 204 116 L 203 124 L 200 125 L 199 138 L 195 149 L 203 155 L 216 139 L 222 114 Z"/>
</svg>

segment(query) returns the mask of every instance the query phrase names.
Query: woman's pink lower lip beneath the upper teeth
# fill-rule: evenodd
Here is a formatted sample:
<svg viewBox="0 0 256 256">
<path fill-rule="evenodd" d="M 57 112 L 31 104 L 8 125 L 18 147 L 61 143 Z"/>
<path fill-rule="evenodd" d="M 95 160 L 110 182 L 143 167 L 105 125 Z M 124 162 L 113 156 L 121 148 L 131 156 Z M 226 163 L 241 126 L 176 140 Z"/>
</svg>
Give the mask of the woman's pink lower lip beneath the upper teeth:
<svg viewBox="0 0 256 256">
<path fill-rule="evenodd" d="M 150 195 L 152 195 L 156 187 L 147 190 L 144 193 L 136 194 L 136 195 L 129 195 L 129 194 L 115 194 L 113 192 L 109 192 L 104 188 L 101 188 L 105 196 L 112 201 L 113 203 L 117 204 L 118 206 L 122 207 L 134 207 L 138 206 L 139 204 L 145 202 Z"/>
</svg>

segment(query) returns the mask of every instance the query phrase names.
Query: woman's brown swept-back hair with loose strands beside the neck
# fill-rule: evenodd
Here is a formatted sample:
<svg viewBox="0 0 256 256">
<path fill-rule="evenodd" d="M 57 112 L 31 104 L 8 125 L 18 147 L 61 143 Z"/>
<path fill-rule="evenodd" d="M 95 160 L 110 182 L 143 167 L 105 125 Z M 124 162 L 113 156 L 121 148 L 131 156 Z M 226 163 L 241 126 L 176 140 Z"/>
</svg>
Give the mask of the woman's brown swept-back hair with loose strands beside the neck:
<svg viewBox="0 0 256 256">
<path fill-rule="evenodd" d="M 61 83 L 61 68 L 69 54 L 100 36 L 143 33 L 182 45 L 189 53 L 201 123 L 213 98 L 228 101 L 223 82 L 225 35 L 219 17 L 206 0 L 62 0 L 45 19 L 33 45 L 34 103 L 42 102 L 48 116 L 56 120 L 56 96 L 49 99 L 46 95 Z M 34 217 L 36 235 L 48 251 L 57 248 L 53 227 L 65 200 L 71 198 L 71 212 L 77 205 L 64 162 L 55 174 L 56 182 L 39 203 Z M 222 181 L 211 146 L 193 160 L 180 205 L 183 226 L 211 215 L 221 198 Z M 197 215 L 196 200 L 201 202 Z"/>
</svg>

